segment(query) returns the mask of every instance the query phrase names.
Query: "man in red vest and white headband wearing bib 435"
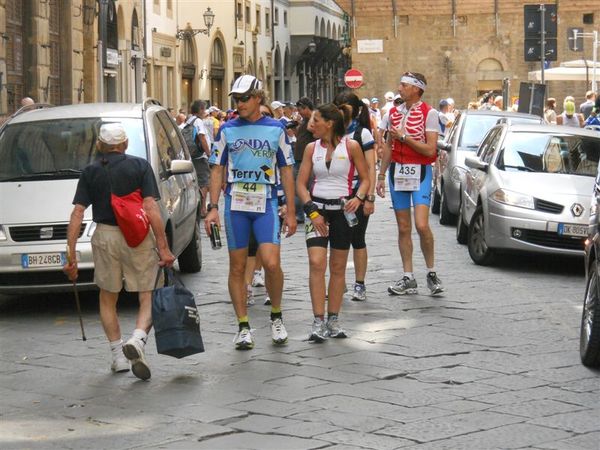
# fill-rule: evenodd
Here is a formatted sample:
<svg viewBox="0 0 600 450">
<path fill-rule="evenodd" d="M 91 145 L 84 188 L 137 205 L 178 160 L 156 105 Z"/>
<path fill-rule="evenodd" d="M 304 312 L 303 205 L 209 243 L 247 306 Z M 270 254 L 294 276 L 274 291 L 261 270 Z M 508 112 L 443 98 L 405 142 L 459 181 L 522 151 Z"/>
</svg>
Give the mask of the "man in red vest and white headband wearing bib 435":
<svg viewBox="0 0 600 450">
<path fill-rule="evenodd" d="M 389 189 L 398 224 L 398 247 L 404 269 L 400 280 L 388 288 L 392 295 L 417 293 L 412 261 L 411 205 L 427 266 L 427 287 L 431 295 L 444 290 L 434 268 L 433 233 L 429 227 L 431 164 L 437 156 L 440 125 L 438 112 L 421 101 L 426 88 L 427 81 L 420 73 L 406 72 L 402 75 L 398 90 L 405 102 L 389 111 L 388 140 L 377 176 L 377 193 L 383 197 L 385 172 L 389 166 Z"/>
</svg>

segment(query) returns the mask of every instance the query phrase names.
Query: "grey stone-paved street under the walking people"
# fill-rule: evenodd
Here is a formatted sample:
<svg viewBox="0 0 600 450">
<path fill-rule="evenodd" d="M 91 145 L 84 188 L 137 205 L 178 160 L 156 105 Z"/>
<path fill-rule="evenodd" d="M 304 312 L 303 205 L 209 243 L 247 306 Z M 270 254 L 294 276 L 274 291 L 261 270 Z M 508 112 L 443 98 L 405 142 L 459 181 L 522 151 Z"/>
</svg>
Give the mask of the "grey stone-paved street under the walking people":
<svg viewBox="0 0 600 450">
<path fill-rule="evenodd" d="M 399 275 L 395 222 L 378 201 L 369 228 L 368 301 L 344 304 L 351 333 L 306 341 L 311 323 L 303 232 L 284 241 L 289 344 L 270 342 L 264 290 L 250 308 L 256 347 L 238 352 L 227 251 L 205 241 L 196 293 L 206 352 L 156 354 L 152 378 L 113 375 L 94 295 L 81 341 L 73 297 L 3 302 L 0 447 L 169 449 L 598 449 L 600 372 L 580 364 L 579 259 L 504 258 L 475 266 L 437 225 L 444 297 L 389 297 Z M 347 281 L 353 280 L 350 265 Z M 124 332 L 135 300 L 120 305 Z"/>
</svg>

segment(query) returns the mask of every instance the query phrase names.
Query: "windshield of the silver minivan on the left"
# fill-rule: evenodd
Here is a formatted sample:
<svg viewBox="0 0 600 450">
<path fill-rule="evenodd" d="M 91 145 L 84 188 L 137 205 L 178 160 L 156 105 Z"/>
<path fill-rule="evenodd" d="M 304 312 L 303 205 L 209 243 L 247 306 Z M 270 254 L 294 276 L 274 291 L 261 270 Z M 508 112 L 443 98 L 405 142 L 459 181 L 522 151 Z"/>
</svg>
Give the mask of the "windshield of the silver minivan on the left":
<svg viewBox="0 0 600 450">
<path fill-rule="evenodd" d="M 146 159 L 142 119 L 68 118 L 7 125 L 0 134 L 0 182 L 78 178 L 96 155 L 103 123 L 121 122 L 128 155 Z"/>
</svg>

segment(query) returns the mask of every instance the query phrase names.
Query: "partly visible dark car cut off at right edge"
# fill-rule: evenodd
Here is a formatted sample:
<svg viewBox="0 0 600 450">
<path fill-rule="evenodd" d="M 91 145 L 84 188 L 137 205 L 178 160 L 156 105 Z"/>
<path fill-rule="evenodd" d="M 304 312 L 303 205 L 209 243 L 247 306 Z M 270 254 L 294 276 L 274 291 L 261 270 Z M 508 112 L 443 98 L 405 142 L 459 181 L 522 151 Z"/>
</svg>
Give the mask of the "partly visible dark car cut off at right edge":
<svg viewBox="0 0 600 450">
<path fill-rule="evenodd" d="M 581 315 L 579 354 L 588 367 L 600 367 L 600 172 L 596 176 L 585 241 L 585 297 Z"/>
</svg>

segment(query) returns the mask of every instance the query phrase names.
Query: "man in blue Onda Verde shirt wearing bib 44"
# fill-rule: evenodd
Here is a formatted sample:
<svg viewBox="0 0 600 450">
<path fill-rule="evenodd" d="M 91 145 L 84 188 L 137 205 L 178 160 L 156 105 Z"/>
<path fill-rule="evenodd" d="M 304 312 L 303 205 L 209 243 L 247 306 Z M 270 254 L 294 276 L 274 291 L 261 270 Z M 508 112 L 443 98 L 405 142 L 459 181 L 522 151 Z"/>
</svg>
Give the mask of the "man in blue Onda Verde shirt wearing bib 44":
<svg viewBox="0 0 600 450">
<path fill-rule="evenodd" d="M 254 338 L 248 320 L 244 274 L 251 230 L 259 244 L 265 284 L 271 298 L 271 337 L 276 345 L 287 342 L 281 315 L 283 272 L 277 185 L 281 184 L 285 192 L 284 228 L 286 236 L 291 236 L 296 232 L 294 156 L 281 122 L 260 112 L 265 93 L 259 80 L 243 75 L 235 80 L 229 95 L 237 105 L 239 117 L 223 124 L 215 139 L 210 158 L 214 164 L 210 204 L 204 223 L 208 234 L 211 223 L 220 226 L 218 201 L 225 181 L 223 215 L 229 247 L 229 295 L 238 320 L 234 343 L 238 350 L 249 350 L 254 347 Z M 223 180 L 224 173 L 226 180 Z"/>
</svg>

